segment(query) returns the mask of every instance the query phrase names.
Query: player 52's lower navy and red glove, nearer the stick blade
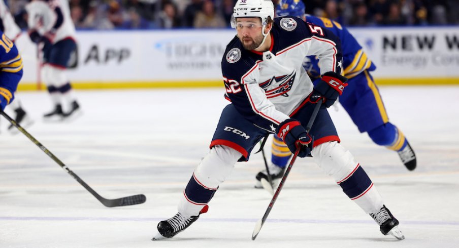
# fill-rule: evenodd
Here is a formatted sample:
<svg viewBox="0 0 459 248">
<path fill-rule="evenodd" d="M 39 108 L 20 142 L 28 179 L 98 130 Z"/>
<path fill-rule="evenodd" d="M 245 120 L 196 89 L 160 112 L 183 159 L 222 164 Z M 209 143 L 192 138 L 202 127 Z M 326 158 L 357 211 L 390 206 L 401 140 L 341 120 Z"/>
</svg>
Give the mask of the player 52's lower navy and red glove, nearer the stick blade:
<svg viewBox="0 0 459 248">
<path fill-rule="evenodd" d="M 279 124 L 276 133 L 277 136 L 285 142 L 292 153 L 300 149 L 298 153 L 299 157 L 306 157 L 311 152 L 311 136 L 309 136 L 303 126 L 301 126 L 300 121 L 296 119 L 286 119 Z"/>
</svg>

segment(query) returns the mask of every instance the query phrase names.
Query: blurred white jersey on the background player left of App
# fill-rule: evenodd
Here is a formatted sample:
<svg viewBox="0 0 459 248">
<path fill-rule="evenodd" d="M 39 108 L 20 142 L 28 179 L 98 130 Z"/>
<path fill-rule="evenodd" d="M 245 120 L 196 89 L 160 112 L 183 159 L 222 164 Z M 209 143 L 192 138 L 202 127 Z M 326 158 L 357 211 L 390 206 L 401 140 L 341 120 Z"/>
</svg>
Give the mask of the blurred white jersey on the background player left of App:
<svg viewBox="0 0 459 248">
<path fill-rule="evenodd" d="M 25 6 L 29 29 L 36 29 L 41 35 L 55 33 L 53 44 L 65 38 L 75 39 L 75 25 L 70 17 L 68 0 L 34 0 Z"/>
</svg>

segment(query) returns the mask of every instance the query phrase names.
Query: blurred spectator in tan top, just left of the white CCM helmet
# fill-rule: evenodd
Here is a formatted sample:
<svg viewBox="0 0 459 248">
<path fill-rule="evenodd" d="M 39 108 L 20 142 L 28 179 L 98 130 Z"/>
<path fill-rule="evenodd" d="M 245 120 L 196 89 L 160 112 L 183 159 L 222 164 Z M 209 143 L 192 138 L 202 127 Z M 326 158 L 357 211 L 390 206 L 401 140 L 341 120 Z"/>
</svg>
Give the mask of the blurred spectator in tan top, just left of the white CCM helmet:
<svg viewBox="0 0 459 248">
<path fill-rule="evenodd" d="M 223 18 L 215 12 L 214 3 L 211 0 L 205 0 L 203 10 L 196 13 L 194 17 L 195 28 L 216 28 L 226 27 Z"/>
</svg>

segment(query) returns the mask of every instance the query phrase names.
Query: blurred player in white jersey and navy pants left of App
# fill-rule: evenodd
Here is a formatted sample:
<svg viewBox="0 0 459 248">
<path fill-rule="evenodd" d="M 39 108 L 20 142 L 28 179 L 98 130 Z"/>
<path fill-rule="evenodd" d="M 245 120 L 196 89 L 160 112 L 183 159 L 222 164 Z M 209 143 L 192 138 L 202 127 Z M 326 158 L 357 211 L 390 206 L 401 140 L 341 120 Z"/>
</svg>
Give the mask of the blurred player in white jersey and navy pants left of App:
<svg viewBox="0 0 459 248">
<path fill-rule="evenodd" d="M 75 25 L 67 0 L 32 0 L 25 7 L 30 39 L 43 45 L 42 80 L 51 95 L 54 109 L 47 120 L 63 120 L 80 113 L 65 70 L 76 51 Z"/>
</svg>

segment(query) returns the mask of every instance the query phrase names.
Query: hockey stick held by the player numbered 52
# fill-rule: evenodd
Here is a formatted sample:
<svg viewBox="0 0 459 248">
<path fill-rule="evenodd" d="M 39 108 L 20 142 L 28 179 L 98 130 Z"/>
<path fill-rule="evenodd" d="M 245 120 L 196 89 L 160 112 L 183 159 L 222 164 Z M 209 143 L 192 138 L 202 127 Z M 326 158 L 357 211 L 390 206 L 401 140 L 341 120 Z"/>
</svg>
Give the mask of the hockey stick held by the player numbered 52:
<svg viewBox="0 0 459 248">
<path fill-rule="evenodd" d="M 319 112 L 319 109 L 320 109 L 320 106 L 322 105 L 322 99 L 320 99 L 316 106 L 314 107 L 314 111 L 312 112 L 311 114 L 311 118 L 309 118 L 309 122 L 308 122 L 308 125 L 306 126 L 306 132 L 309 133 L 309 130 L 311 130 L 311 127 L 314 123 L 314 120 L 317 116 L 317 113 Z M 263 218 L 259 219 L 256 224 L 255 224 L 255 228 L 253 229 L 253 232 L 252 232 L 252 240 L 255 240 L 256 236 L 258 235 L 258 233 L 260 232 L 261 230 L 261 227 L 263 227 L 263 224 L 265 224 L 265 221 L 266 219 L 268 218 L 268 215 L 269 213 L 271 212 L 271 210 L 273 209 L 273 206 L 274 206 L 274 202 L 276 202 L 276 199 L 277 199 L 277 196 L 279 196 L 279 193 L 280 193 L 280 190 L 282 189 L 282 187 L 284 186 L 284 183 L 285 183 L 285 179 L 287 179 L 287 176 L 288 176 L 288 173 L 290 173 L 290 170 L 291 170 L 291 167 L 293 166 L 293 163 L 295 162 L 295 160 L 297 159 L 297 156 L 298 156 L 298 153 L 300 152 L 300 149 L 297 149 L 297 151 L 295 152 L 295 154 L 293 154 L 293 157 L 291 158 L 291 161 L 290 163 L 288 164 L 288 167 L 287 169 L 285 170 L 285 174 L 284 176 L 282 177 L 282 180 L 280 181 L 279 183 L 279 186 L 277 187 L 277 190 L 276 192 L 274 193 L 273 195 L 273 198 L 271 199 L 271 202 L 269 203 L 268 205 L 268 208 L 266 209 L 266 212 L 265 212 L 265 215 L 263 216 Z"/>
</svg>

